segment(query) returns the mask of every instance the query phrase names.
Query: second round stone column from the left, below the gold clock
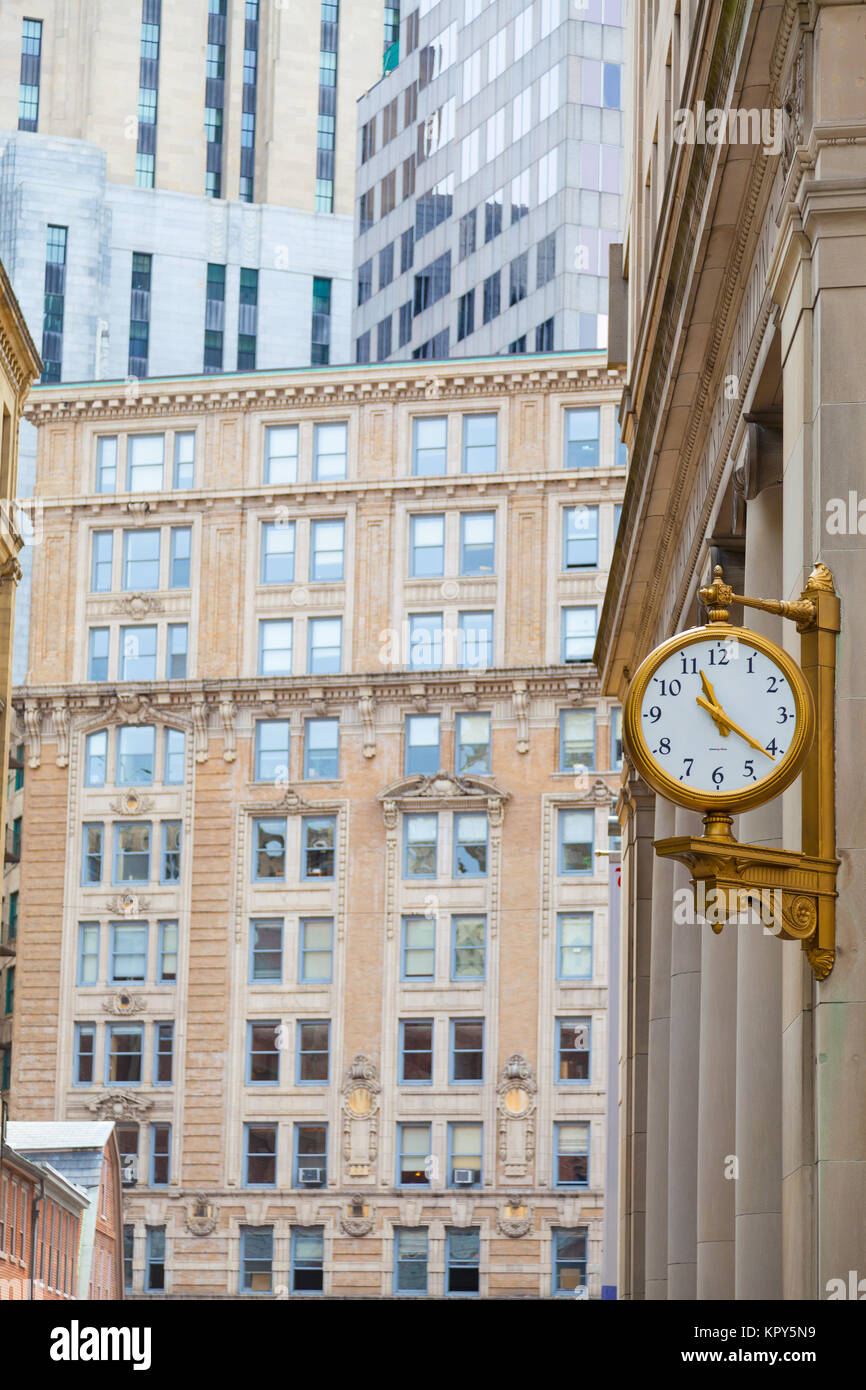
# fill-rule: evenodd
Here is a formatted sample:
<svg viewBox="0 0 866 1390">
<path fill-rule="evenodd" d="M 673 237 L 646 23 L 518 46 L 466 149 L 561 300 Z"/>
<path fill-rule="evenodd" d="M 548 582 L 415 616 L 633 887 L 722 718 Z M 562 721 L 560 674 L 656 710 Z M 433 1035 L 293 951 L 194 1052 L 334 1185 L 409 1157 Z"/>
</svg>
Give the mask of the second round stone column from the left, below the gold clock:
<svg viewBox="0 0 866 1390">
<path fill-rule="evenodd" d="M 677 809 L 677 835 L 701 834 L 702 820 Z M 674 902 L 688 901 L 691 878 L 674 863 Z M 698 1047 L 701 1029 L 701 933 L 694 923 L 670 929 L 670 1069 L 667 1126 L 667 1297 L 695 1298 L 698 1266 Z"/>
</svg>

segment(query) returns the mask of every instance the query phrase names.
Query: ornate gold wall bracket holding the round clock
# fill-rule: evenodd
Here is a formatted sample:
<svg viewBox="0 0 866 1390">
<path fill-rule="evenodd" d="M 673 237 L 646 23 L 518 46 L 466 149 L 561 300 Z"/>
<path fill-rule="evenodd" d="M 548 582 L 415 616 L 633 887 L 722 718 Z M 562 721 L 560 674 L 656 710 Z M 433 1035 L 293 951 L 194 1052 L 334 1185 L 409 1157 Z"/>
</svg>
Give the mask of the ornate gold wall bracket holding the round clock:
<svg viewBox="0 0 866 1390">
<path fill-rule="evenodd" d="M 817 980 L 826 980 L 835 960 L 835 639 L 841 628 L 840 599 L 833 574 L 816 564 L 799 599 L 752 599 L 734 594 L 716 566 L 713 582 L 701 589 L 708 626 L 727 623 L 728 606 L 762 609 L 796 623 L 801 634 L 801 669 L 815 702 L 815 739 L 801 774 L 802 849 L 769 849 L 740 844 L 731 834 L 731 816 L 705 816 L 703 835 L 674 835 L 655 841 L 656 853 L 677 859 L 692 874 L 698 899 L 714 892 L 730 916 L 751 901 L 773 913 L 773 931 L 783 941 L 799 941 Z M 708 898 L 703 898 L 708 901 Z M 721 931 L 724 920 L 713 922 Z"/>
</svg>

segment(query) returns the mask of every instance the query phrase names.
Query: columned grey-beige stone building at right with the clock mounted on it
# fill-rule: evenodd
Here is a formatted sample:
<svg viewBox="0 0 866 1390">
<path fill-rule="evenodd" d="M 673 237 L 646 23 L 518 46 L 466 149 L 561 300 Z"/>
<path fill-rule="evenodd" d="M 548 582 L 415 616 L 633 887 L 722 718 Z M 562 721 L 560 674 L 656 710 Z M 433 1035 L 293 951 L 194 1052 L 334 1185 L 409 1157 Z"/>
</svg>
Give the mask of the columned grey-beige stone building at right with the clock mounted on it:
<svg viewBox="0 0 866 1390">
<path fill-rule="evenodd" d="M 824 783 L 841 866 L 820 977 L 760 926 L 688 924 L 688 870 L 653 841 L 701 820 L 626 770 L 620 1286 L 856 1297 L 840 1289 L 866 1268 L 866 6 L 660 0 L 632 19 L 627 285 L 612 286 L 610 334 L 630 477 L 596 660 L 624 699 L 653 646 L 706 620 L 698 589 L 717 564 L 735 594 L 776 600 L 799 599 L 824 564 L 841 596 Z M 792 623 L 742 607 L 733 620 L 799 659 Z M 799 851 L 802 812 L 796 783 L 734 834 Z"/>
</svg>

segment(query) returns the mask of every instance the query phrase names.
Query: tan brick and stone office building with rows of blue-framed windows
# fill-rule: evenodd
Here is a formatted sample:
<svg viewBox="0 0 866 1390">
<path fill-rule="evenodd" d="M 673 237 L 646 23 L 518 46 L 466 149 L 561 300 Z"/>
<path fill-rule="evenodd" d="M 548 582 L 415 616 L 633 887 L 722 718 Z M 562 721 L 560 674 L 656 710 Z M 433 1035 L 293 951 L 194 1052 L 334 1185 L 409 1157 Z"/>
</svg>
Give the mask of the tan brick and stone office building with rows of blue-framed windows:
<svg viewBox="0 0 866 1390">
<path fill-rule="evenodd" d="M 619 391 L 33 393 L 13 1113 L 117 1120 L 133 1297 L 598 1297 Z"/>
</svg>

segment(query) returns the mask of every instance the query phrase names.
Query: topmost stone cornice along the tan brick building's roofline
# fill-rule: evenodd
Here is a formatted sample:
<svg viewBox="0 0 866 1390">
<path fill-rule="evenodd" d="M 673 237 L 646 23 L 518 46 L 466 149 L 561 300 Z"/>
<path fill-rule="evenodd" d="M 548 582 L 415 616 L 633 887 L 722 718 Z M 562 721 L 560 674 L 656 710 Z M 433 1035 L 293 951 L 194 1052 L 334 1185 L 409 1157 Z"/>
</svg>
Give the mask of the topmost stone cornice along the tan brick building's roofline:
<svg viewBox="0 0 866 1390">
<path fill-rule="evenodd" d="M 260 373 L 152 378 L 140 382 L 70 382 L 31 392 L 25 417 L 40 425 L 58 420 L 142 420 L 202 411 L 285 411 L 349 409 L 357 404 L 457 402 L 503 395 L 563 392 L 612 395 L 623 389 L 623 374 L 609 368 L 603 353 L 591 361 L 578 354 L 539 357 L 521 368 L 513 359 L 449 360 L 385 364 L 375 370 L 346 367 L 342 375 Z"/>
</svg>

